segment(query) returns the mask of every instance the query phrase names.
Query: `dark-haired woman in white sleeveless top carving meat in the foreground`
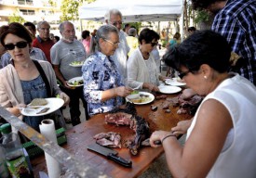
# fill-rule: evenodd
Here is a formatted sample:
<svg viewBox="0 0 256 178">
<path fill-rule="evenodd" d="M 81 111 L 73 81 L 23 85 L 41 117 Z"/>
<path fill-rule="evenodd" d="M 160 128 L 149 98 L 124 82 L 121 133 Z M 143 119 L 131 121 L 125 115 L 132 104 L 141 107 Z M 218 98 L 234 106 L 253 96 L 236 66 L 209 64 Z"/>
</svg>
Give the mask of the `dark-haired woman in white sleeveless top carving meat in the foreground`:
<svg viewBox="0 0 256 178">
<path fill-rule="evenodd" d="M 256 87 L 230 68 L 231 48 L 217 32 L 189 36 L 164 56 L 198 95 L 205 95 L 184 146 L 175 134 L 155 131 L 173 177 L 255 177 Z"/>
</svg>

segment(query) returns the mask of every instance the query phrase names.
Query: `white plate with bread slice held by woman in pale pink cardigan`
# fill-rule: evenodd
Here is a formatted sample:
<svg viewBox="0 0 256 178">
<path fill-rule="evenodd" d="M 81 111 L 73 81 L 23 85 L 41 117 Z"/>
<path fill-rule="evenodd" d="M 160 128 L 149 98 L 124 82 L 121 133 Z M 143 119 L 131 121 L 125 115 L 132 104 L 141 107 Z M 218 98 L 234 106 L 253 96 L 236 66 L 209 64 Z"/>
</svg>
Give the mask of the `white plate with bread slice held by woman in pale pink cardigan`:
<svg viewBox="0 0 256 178">
<path fill-rule="evenodd" d="M 20 113 L 24 116 L 44 116 L 61 108 L 64 100 L 58 97 L 34 98 L 27 105 L 27 108 L 21 108 Z"/>
</svg>

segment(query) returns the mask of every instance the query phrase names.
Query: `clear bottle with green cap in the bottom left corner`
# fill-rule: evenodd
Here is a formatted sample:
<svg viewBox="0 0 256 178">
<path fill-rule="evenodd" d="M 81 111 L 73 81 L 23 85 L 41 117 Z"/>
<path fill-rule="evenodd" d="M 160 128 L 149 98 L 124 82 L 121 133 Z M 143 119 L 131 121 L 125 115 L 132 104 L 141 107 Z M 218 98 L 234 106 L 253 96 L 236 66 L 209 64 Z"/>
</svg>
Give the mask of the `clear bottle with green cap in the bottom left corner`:
<svg viewBox="0 0 256 178">
<path fill-rule="evenodd" d="M 28 163 L 24 156 L 18 134 L 10 133 L 9 123 L 1 125 L 3 136 L 0 138 L 0 146 L 4 147 L 7 168 L 13 178 L 31 178 L 33 173 L 29 170 Z"/>
</svg>

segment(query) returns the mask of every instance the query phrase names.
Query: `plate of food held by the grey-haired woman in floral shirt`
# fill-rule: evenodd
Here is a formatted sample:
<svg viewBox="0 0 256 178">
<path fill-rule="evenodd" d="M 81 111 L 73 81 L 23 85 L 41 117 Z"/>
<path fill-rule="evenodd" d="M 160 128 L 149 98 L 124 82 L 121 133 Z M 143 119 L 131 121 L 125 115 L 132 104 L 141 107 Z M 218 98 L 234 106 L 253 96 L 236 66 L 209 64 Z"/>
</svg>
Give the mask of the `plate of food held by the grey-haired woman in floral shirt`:
<svg viewBox="0 0 256 178">
<path fill-rule="evenodd" d="M 133 91 L 134 92 L 134 91 Z M 131 93 L 126 97 L 126 100 L 136 105 L 145 105 L 154 101 L 155 96 L 148 92 Z"/>
</svg>

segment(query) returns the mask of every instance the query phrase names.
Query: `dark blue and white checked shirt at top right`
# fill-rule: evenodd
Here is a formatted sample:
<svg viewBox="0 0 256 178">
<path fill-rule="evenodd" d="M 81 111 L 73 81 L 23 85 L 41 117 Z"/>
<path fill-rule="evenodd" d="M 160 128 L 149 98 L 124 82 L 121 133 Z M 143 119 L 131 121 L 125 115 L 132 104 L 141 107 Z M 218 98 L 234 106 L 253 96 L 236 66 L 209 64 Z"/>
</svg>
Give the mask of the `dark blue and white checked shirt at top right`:
<svg viewBox="0 0 256 178">
<path fill-rule="evenodd" d="M 228 0 L 216 15 L 211 29 L 220 32 L 243 57 L 245 65 L 239 73 L 256 85 L 256 1 Z"/>
</svg>

